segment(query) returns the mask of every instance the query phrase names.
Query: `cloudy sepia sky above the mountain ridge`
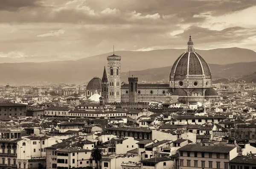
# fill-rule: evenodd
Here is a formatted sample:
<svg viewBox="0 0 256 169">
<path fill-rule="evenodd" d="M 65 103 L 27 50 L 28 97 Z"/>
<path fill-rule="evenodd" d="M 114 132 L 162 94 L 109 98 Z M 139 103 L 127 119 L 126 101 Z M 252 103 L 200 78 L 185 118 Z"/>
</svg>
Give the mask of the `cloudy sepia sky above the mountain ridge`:
<svg viewBox="0 0 256 169">
<path fill-rule="evenodd" d="M 256 51 L 256 0 L 0 0 L 0 60 L 76 60 L 113 51 Z"/>
</svg>

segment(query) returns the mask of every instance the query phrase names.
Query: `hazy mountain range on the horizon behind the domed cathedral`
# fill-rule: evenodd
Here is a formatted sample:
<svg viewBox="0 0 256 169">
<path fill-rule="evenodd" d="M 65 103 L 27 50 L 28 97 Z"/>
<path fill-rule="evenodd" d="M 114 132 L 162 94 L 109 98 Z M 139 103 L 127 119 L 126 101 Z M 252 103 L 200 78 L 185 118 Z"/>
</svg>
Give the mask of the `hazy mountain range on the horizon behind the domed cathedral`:
<svg viewBox="0 0 256 169">
<path fill-rule="evenodd" d="M 122 81 L 130 75 L 139 81 L 168 82 L 171 65 L 184 49 L 154 51 L 116 51 L 122 56 Z M 209 64 L 212 78 L 245 76 L 255 72 L 256 52 L 243 48 L 220 48 L 196 50 Z M 76 61 L 1 63 L 0 84 L 43 84 L 43 83 L 83 83 L 93 76 L 102 78 L 107 56 L 113 53 L 86 57 Z M 130 70 L 130 73 L 129 73 Z"/>
</svg>

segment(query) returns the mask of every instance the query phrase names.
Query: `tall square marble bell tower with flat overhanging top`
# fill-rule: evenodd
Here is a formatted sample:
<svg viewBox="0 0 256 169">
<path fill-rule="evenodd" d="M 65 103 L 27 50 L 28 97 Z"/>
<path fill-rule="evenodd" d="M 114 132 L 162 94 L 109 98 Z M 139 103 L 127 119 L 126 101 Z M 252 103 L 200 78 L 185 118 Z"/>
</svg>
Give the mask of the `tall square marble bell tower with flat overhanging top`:
<svg viewBox="0 0 256 169">
<path fill-rule="evenodd" d="M 108 102 L 121 102 L 121 56 L 114 54 L 108 60 Z"/>
</svg>

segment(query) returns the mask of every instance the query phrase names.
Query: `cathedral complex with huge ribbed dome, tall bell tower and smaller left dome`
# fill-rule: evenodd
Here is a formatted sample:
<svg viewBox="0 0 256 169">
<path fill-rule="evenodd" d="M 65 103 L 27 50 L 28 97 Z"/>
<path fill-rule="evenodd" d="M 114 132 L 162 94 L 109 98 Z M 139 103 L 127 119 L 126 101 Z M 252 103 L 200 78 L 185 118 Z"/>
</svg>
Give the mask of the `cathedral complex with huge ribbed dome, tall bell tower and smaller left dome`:
<svg viewBox="0 0 256 169">
<path fill-rule="evenodd" d="M 186 51 L 172 65 L 169 84 L 139 84 L 137 77 L 129 77 L 128 84 L 121 84 L 121 56 L 107 56 L 108 67 L 102 79 L 94 77 L 86 87 L 87 98 L 97 90 L 105 103 L 179 101 L 193 104 L 209 101 L 214 103 L 219 96 L 212 88 L 209 65 L 195 52 L 191 36 Z"/>
</svg>

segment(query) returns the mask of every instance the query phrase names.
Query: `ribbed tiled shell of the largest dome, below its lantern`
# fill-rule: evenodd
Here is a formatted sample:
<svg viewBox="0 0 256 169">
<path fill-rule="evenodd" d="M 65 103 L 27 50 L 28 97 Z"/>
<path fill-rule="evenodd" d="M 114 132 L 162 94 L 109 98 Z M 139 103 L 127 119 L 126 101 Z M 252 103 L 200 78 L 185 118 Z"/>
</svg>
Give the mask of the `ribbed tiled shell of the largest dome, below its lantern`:
<svg viewBox="0 0 256 169">
<path fill-rule="evenodd" d="M 171 76 L 211 75 L 205 60 L 196 52 L 185 52 L 174 62 Z"/>
</svg>

